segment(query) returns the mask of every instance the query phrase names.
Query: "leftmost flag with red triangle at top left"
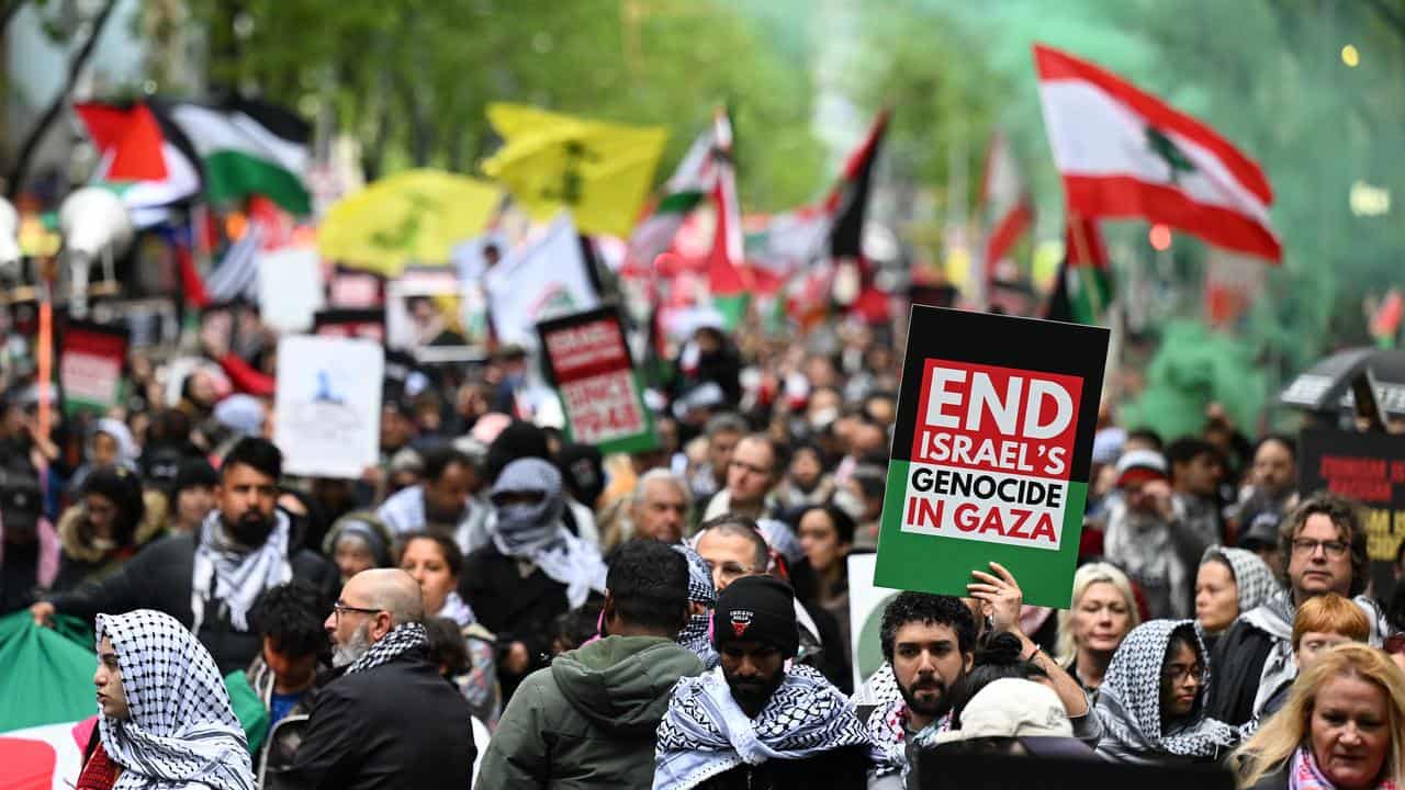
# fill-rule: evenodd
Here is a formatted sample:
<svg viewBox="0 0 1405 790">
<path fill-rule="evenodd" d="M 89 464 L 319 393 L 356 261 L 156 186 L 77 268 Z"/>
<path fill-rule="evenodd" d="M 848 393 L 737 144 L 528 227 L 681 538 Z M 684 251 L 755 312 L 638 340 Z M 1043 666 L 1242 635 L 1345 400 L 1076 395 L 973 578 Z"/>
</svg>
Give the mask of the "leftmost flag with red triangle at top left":
<svg viewBox="0 0 1405 790">
<path fill-rule="evenodd" d="M 166 221 L 170 207 L 200 195 L 194 148 L 152 105 L 89 101 L 73 110 L 98 150 L 93 183 L 122 198 L 136 228 Z"/>
</svg>

